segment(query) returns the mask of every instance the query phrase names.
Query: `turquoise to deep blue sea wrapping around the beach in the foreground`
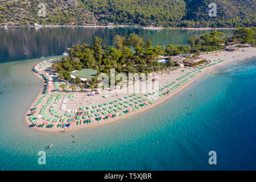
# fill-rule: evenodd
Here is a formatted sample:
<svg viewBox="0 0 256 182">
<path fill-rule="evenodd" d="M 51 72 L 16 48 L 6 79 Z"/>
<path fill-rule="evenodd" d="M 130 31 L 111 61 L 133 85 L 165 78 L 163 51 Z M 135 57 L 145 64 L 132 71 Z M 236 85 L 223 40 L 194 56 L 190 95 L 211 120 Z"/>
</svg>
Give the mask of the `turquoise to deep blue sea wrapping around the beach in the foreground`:
<svg viewBox="0 0 256 182">
<path fill-rule="evenodd" d="M 24 114 L 43 84 L 31 69 L 42 59 L 7 58 L 0 63 L 0 170 L 256 169 L 256 57 L 206 73 L 153 109 L 70 133 L 28 127 Z M 39 151 L 46 165 L 38 164 Z"/>
</svg>

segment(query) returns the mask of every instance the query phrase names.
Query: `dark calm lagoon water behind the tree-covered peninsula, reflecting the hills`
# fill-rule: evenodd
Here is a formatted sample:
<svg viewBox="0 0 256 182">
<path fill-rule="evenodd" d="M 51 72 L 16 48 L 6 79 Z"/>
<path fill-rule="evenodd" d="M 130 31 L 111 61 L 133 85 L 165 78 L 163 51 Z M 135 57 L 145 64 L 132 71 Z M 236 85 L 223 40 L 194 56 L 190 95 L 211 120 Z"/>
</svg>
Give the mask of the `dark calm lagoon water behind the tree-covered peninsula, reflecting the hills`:
<svg viewBox="0 0 256 182">
<path fill-rule="evenodd" d="M 55 56 L 67 52 L 67 48 L 76 44 L 93 44 L 95 36 L 102 39 L 102 46 L 113 46 L 114 36 L 127 36 L 135 33 L 144 42 L 151 40 L 152 46 L 179 44 L 188 46 L 187 41 L 193 35 L 198 38 L 212 30 L 144 30 L 132 27 L 55 27 L 55 28 L 0 28 L 0 62 Z M 225 36 L 232 30 L 221 30 Z"/>
</svg>

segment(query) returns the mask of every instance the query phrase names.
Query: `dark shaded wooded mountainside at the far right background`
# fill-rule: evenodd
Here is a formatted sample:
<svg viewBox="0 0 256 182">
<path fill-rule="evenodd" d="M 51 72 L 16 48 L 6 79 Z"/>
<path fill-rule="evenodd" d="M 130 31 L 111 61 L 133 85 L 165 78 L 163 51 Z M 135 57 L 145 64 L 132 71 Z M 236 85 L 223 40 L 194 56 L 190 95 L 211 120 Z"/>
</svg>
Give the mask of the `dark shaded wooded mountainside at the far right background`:
<svg viewBox="0 0 256 182">
<path fill-rule="evenodd" d="M 187 3 L 186 20 L 214 22 L 217 27 L 255 26 L 256 0 L 184 0 Z M 216 3 L 217 16 L 210 17 L 210 3 Z M 209 26 L 209 23 L 208 23 Z"/>
</svg>

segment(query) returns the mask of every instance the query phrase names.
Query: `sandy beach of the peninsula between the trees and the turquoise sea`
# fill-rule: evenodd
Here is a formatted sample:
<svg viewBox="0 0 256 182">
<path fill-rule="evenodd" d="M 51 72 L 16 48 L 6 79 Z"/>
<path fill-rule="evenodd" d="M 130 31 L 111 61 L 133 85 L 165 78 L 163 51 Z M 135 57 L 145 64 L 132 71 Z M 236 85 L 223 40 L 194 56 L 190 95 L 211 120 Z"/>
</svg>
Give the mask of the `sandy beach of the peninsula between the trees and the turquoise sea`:
<svg viewBox="0 0 256 182">
<path fill-rule="evenodd" d="M 242 51 L 242 50 L 244 50 L 244 51 Z M 85 128 L 85 127 L 96 127 L 98 125 L 103 125 L 103 124 L 110 123 L 110 122 L 113 122 L 113 121 L 119 121 L 119 119 L 122 119 L 122 118 L 131 117 L 134 114 L 141 113 L 142 111 L 145 111 L 147 109 L 152 109 L 153 107 L 163 103 L 164 101 L 166 101 L 169 98 L 171 98 L 172 96 L 174 96 L 176 93 L 180 92 L 182 89 L 184 89 L 187 86 L 189 86 L 190 84 L 192 84 L 193 81 L 195 81 L 197 78 L 203 76 L 205 73 L 213 71 L 214 69 L 216 69 L 218 67 L 222 67 L 223 65 L 233 63 L 234 61 L 243 60 L 243 59 L 246 59 L 246 58 L 249 58 L 249 57 L 254 57 L 254 56 L 256 56 L 256 48 L 240 48 L 236 52 L 221 51 L 221 52 L 213 52 L 213 53 L 208 53 L 208 54 L 202 54 L 202 55 L 200 55 L 201 58 L 211 60 L 209 63 L 205 64 L 205 68 L 200 68 L 199 69 L 199 67 L 201 67 L 201 65 L 198 65 L 197 68 L 187 68 L 186 67 L 186 68 L 177 69 L 176 71 L 172 71 L 170 73 L 160 74 L 159 75 L 159 77 L 160 77 L 159 88 L 164 89 L 164 86 L 170 84 L 173 81 L 175 81 L 176 84 L 177 84 L 179 82 L 179 81 L 177 81 L 177 78 L 180 78 L 180 77 L 182 77 L 186 74 L 189 76 L 189 75 L 193 75 L 193 73 L 196 73 L 195 76 L 189 78 L 188 81 L 184 82 L 184 84 L 180 85 L 177 89 L 172 90 L 172 92 L 168 92 L 167 90 L 163 90 L 162 93 L 166 93 L 166 92 L 168 92 L 168 93 L 163 94 L 163 96 L 160 96 L 159 98 L 155 97 L 154 99 L 152 99 L 153 97 L 151 97 L 151 96 L 146 96 L 145 93 L 137 93 L 136 96 L 131 96 L 132 93 L 114 94 L 114 93 L 105 93 L 102 90 L 99 90 L 99 94 L 95 94 L 93 96 L 88 96 L 89 93 L 90 93 L 90 89 L 84 89 L 85 90 L 84 92 L 80 92 L 79 88 L 75 89 L 74 92 L 71 92 L 71 89 L 68 89 L 67 92 L 62 92 L 62 91 L 60 91 L 61 89 L 59 91 L 55 92 L 56 90 L 53 89 L 54 86 L 55 86 L 54 85 L 55 82 L 52 81 L 49 84 L 49 85 L 52 85 L 51 89 L 49 90 L 49 93 L 47 94 L 47 96 L 43 99 L 42 103 L 40 103 L 40 107 L 42 107 L 42 105 L 49 105 L 49 106 L 50 105 L 55 105 L 54 110 L 57 113 L 60 113 L 60 117 L 57 117 L 58 119 L 73 118 L 73 125 L 71 125 L 70 127 L 65 127 L 66 131 L 82 129 L 82 128 Z M 220 61 L 220 60 L 222 60 L 222 61 Z M 44 70 L 51 70 L 51 64 L 54 61 L 55 60 L 47 61 L 46 63 L 44 63 L 45 65 L 42 66 L 42 68 Z M 209 66 L 209 64 L 212 64 L 212 65 Z M 201 71 L 201 72 L 199 72 L 199 71 Z M 34 73 L 34 75 L 36 77 L 42 79 L 42 76 L 40 76 L 38 73 Z M 60 82 L 60 84 L 61 83 L 62 82 Z M 44 86 L 45 85 L 46 85 L 46 83 L 44 84 Z M 67 88 L 68 88 L 68 86 L 67 86 Z M 168 89 L 168 88 L 166 88 L 166 89 Z M 38 102 L 39 98 L 41 98 L 45 95 L 43 93 L 44 92 L 43 90 L 44 90 L 44 87 L 42 88 L 42 92 L 40 92 L 38 97 L 32 103 L 30 109 L 34 108 L 35 104 L 36 104 L 36 102 Z M 151 91 L 152 90 L 147 90 L 146 93 L 148 94 Z M 47 102 L 49 101 L 49 97 L 51 97 L 52 94 L 54 96 L 56 96 L 57 94 L 61 94 L 60 103 L 58 103 L 58 104 L 52 104 L 52 103 L 47 104 Z M 63 98 L 65 94 L 67 96 L 69 96 L 68 99 Z M 71 95 L 73 95 L 73 97 L 70 97 Z M 102 96 L 106 96 L 106 95 L 110 95 L 110 96 L 105 97 L 105 98 L 102 97 Z M 116 103 L 114 103 L 114 101 L 117 101 L 117 100 L 122 98 L 122 100 L 119 100 L 119 102 L 125 101 L 125 102 L 127 102 L 127 105 L 128 105 L 128 104 L 131 104 L 130 100 L 133 100 L 133 98 L 136 98 L 136 97 L 141 97 L 141 98 L 138 98 L 138 100 L 141 100 L 142 98 L 145 99 L 145 101 L 143 101 L 143 103 L 146 102 L 147 105 L 142 106 L 140 109 L 130 111 L 128 114 L 124 114 L 122 116 L 116 115 L 116 117 L 114 117 L 114 118 L 109 117 L 108 119 L 101 119 L 101 121 L 94 121 L 94 122 L 90 122 L 90 123 L 81 123 L 80 125 L 76 124 L 77 121 L 79 121 L 79 120 L 81 120 L 81 121 L 85 120 L 85 119 L 76 119 L 77 118 L 77 113 L 79 111 L 81 111 L 80 110 L 81 107 L 96 106 L 94 111 L 95 110 L 100 110 L 100 111 L 95 111 L 95 113 L 93 113 L 93 114 L 97 114 L 97 113 L 100 114 L 103 111 L 105 111 L 105 110 L 102 110 L 102 108 L 109 107 L 110 105 L 111 105 L 110 107 L 113 106 L 112 107 L 113 110 L 119 108 L 120 106 L 114 107 L 114 105 L 116 104 Z M 62 101 L 62 103 L 61 103 L 61 101 Z M 102 105 L 101 107 L 99 106 L 101 104 L 110 103 L 110 102 L 113 102 L 113 104 L 109 104 L 108 106 L 105 106 L 105 105 Z M 149 104 L 150 102 L 152 102 L 152 103 L 154 102 L 154 104 Z M 118 102 L 117 102 L 117 104 L 118 104 Z M 139 103 L 138 105 L 140 105 L 140 104 L 141 103 Z M 65 105 L 65 109 L 61 109 L 61 105 Z M 97 106 L 99 106 L 99 107 L 97 107 Z M 137 106 L 137 104 L 135 104 L 135 106 Z M 38 107 L 38 110 L 41 109 L 40 107 Z M 120 112 L 123 112 L 123 111 L 129 109 L 129 107 L 121 109 Z M 111 110 L 112 110 L 112 108 L 111 108 Z M 68 110 L 76 110 L 76 112 L 74 112 L 74 113 L 73 112 L 68 112 Z M 84 110 L 86 111 L 86 109 L 84 109 Z M 92 111 L 92 110 L 93 110 L 93 108 L 88 109 L 88 111 Z M 118 112 L 119 111 L 114 111 L 112 114 L 118 113 Z M 66 114 L 67 113 L 75 114 L 75 116 L 74 117 L 65 117 L 65 115 L 64 115 L 65 113 Z M 28 125 L 32 124 L 31 121 L 30 121 L 30 116 L 29 116 L 30 114 L 31 114 L 31 110 L 28 110 L 27 114 L 25 116 L 25 120 L 28 123 Z M 93 115 L 93 114 L 92 113 L 82 114 L 81 116 L 83 117 L 84 115 Z M 110 113 L 108 113 L 108 114 L 110 114 Z M 38 113 L 35 113 L 35 117 L 38 117 L 38 115 L 39 115 Z M 48 115 L 49 117 L 52 117 L 52 118 L 56 118 L 56 117 L 53 117 L 51 112 L 49 112 L 49 109 L 47 109 L 46 115 Z M 43 122 L 47 121 L 47 119 L 42 119 L 42 118 L 43 117 L 40 117 L 40 118 L 38 117 L 38 122 L 43 123 Z M 49 121 L 49 123 L 51 123 L 51 122 Z M 59 124 L 59 122 L 56 122 L 56 123 Z M 40 130 L 40 131 L 53 131 L 53 132 L 54 131 L 55 132 L 60 132 L 60 131 L 64 130 L 63 127 L 56 127 L 56 126 L 55 127 L 49 127 L 49 128 L 34 126 L 34 127 L 31 127 L 31 128 L 32 129 L 37 129 L 37 130 Z"/>
</svg>

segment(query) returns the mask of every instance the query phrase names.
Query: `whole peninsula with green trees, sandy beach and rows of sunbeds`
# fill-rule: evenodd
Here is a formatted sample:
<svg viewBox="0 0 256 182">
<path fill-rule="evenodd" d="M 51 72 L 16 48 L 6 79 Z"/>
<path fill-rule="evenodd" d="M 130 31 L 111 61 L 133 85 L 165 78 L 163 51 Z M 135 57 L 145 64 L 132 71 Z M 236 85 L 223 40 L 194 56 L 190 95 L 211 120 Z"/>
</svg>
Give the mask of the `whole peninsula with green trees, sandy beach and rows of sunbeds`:
<svg viewBox="0 0 256 182">
<path fill-rule="evenodd" d="M 254 32 L 253 37 L 241 36 L 248 30 Z M 232 38 L 225 39 L 220 38 L 224 34 L 213 31 L 200 38 L 189 38 L 187 47 L 151 47 L 150 40 L 144 43 L 135 34 L 126 38 L 116 36 L 112 47 L 100 46 L 98 38 L 92 47 L 72 46 L 69 56 L 45 60 L 34 67 L 44 86 L 28 110 L 26 121 L 37 129 L 65 131 L 116 121 L 151 109 L 204 73 L 256 56 L 254 30 L 238 28 Z M 205 49 L 210 51 L 204 52 Z M 115 70 L 114 86 L 110 83 L 111 69 Z M 98 78 L 102 73 L 110 82 L 105 80 L 101 85 Z M 117 78 L 120 73 L 144 74 L 147 80 L 122 80 Z"/>
</svg>

